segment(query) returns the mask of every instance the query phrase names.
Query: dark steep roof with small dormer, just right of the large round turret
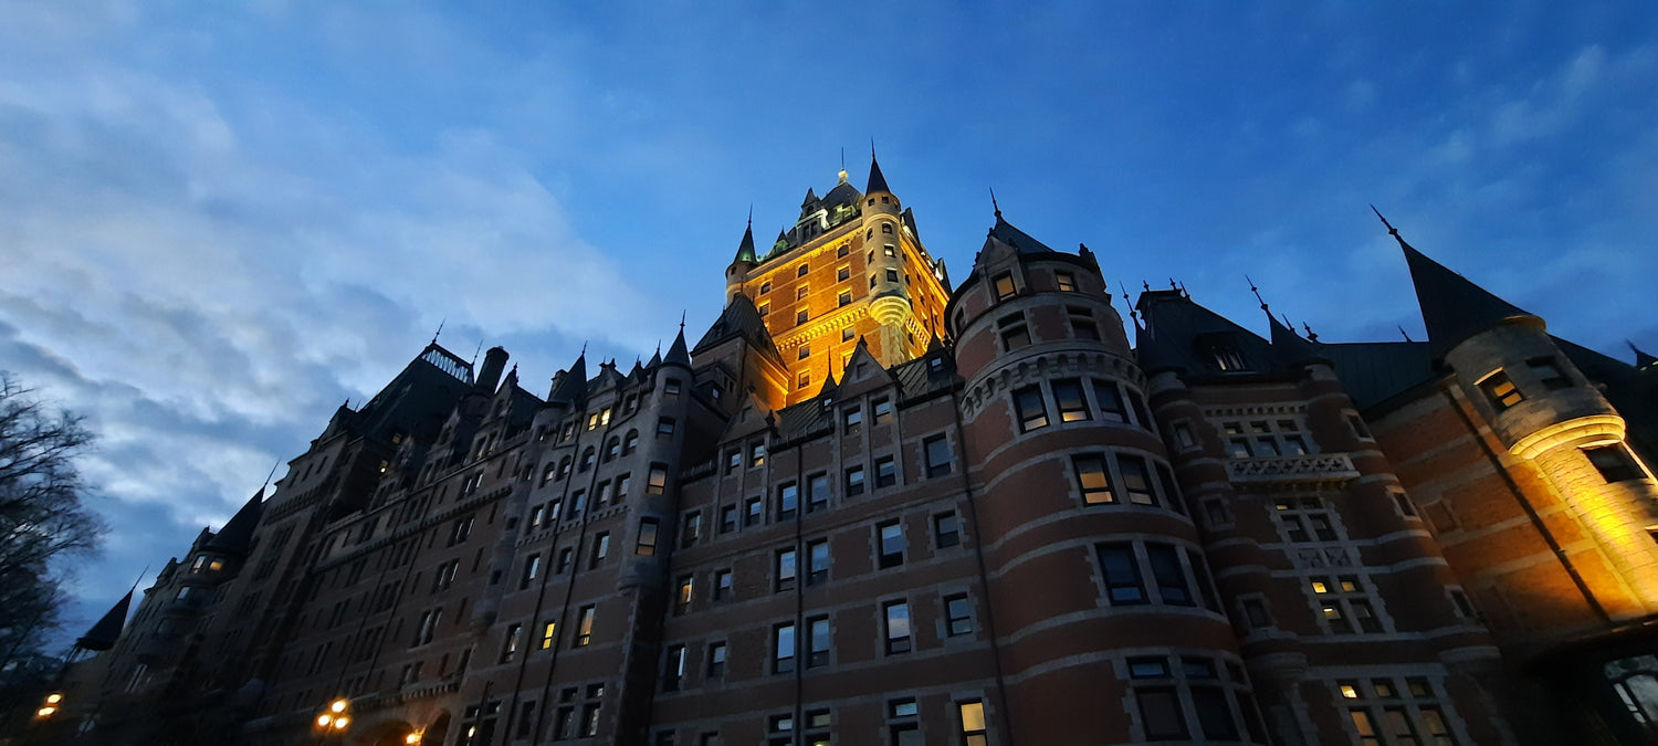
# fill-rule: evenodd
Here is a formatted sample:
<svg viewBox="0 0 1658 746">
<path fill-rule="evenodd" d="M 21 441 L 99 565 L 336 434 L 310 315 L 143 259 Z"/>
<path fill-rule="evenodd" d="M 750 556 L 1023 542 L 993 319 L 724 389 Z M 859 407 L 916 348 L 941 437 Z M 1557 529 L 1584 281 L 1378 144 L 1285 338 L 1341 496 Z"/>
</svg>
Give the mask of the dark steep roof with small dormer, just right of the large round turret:
<svg viewBox="0 0 1658 746">
<path fill-rule="evenodd" d="M 1278 353 L 1253 332 L 1204 308 L 1179 290 L 1147 290 L 1136 303 L 1146 327 L 1136 332 L 1136 353 L 1146 373 L 1222 375 L 1217 345 L 1230 345 L 1244 358 L 1244 370 L 1265 373 L 1280 368 Z"/>
</svg>

